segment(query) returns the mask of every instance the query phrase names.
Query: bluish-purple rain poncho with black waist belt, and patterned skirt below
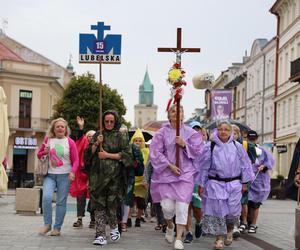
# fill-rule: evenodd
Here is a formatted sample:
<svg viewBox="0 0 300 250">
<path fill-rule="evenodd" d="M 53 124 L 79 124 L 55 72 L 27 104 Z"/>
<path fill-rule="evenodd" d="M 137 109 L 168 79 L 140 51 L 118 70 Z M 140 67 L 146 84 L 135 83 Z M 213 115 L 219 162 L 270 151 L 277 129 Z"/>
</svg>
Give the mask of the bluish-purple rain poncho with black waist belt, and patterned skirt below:
<svg viewBox="0 0 300 250">
<path fill-rule="evenodd" d="M 242 183 L 252 181 L 251 161 L 239 142 L 233 142 L 233 133 L 223 143 L 215 130 L 212 140 L 216 143 L 211 153 L 211 142 L 204 147 L 198 165 L 196 183 L 204 187 L 203 231 L 212 235 L 227 233 L 226 224 L 234 224 L 241 214 Z M 209 180 L 208 176 L 233 178 L 231 182 Z"/>
</svg>

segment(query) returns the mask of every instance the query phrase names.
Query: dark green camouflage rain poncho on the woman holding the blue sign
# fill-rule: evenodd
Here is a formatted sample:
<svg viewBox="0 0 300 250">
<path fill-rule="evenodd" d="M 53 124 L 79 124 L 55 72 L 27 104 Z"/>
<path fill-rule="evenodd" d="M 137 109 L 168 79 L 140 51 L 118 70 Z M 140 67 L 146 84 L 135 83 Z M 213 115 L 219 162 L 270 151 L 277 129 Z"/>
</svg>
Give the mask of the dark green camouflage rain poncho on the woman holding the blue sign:
<svg viewBox="0 0 300 250">
<path fill-rule="evenodd" d="M 92 145 L 97 140 L 99 131 L 93 136 L 85 151 L 85 168 L 89 174 L 89 191 L 91 210 L 97 207 L 115 208 L 123 199 L 127 189 L 127 167 L 133 166 L 133 158 L 129 147 L 127 133 L 119 131 L 120 122 L 116 112 L 107 111 L 115 117 L 113 130 L 103 130 L 103 150 L 108 153 L 120 153 L 120 160 L 102 159 L 98 157 L 99 147 L 94 155 Z M 104 127 L 104 126 L 103 126 Z"/>
</svg>

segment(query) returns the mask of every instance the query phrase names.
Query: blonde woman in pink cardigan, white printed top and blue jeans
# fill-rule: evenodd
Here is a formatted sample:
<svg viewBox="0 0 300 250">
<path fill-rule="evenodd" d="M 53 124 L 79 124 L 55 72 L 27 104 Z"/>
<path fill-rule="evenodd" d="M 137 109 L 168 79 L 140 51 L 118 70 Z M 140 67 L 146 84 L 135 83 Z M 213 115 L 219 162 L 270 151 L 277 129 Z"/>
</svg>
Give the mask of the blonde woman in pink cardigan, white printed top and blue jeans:
<svg viewBox="0 0 300 250">
<path fill-rule="evenodd" d="M 43 182 L 44 227 L 42 235 L 52 229 L 52 199 L 56 190 L 55 223 L 51 236 L 59 236 L 64 222 L 70 181 L 75 180 L 78 169 L 78 152 L 75 142 L 69 137 L 68 123 L 63 118 L 51 122 L 48 136 L 38 151 L 38 158 L 49 156 L 48 174 Z"/>
</svg>

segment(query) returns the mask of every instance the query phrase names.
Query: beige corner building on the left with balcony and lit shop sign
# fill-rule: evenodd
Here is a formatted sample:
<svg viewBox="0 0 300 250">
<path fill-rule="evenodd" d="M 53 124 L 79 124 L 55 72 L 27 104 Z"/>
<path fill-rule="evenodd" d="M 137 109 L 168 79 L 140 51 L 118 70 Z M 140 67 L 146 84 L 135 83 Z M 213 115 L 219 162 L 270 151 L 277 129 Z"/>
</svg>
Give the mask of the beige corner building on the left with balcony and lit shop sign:
<svg viewBox="0 0 300 250">
<path fill-rule="evenodd" d="M 7 96 L 7 157 L 15 186 L 33 179 L 52 107 L 71 77 L 72 72 L 0 33 L 0 86 Z"/>
</svg>

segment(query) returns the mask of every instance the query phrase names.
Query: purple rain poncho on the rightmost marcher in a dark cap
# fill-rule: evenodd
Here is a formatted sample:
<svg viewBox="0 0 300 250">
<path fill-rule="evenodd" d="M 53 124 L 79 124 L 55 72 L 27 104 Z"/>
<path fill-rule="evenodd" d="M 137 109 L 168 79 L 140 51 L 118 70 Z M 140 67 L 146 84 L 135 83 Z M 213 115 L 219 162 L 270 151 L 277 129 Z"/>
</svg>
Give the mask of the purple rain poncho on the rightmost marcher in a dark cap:
<svg viewBox="0 0 300 250">
<path fill-rule="evenodd" d="M 255 175 L 257 174 L 257 168 L 264 165 L 267 171 L 261 171 L 256 179 L 250 186 L 248 200 L 255 203 L 263 203 L 269 196 L 271 186 L 270 186 L 270 175 L 268 170 L 271 170 L 274 166 L 275 160 L 273 155 L 265 148 L 256 145 L 262 150 L 262 154 L 258 156 L 255 163 L 252 165 Z"/>
</svg>

